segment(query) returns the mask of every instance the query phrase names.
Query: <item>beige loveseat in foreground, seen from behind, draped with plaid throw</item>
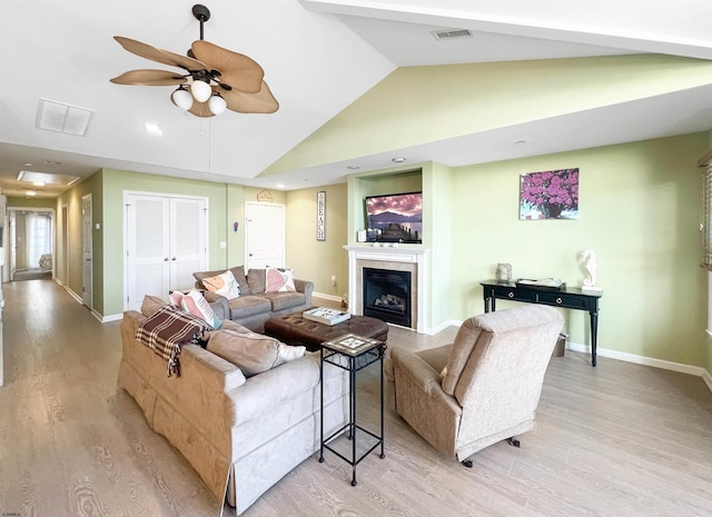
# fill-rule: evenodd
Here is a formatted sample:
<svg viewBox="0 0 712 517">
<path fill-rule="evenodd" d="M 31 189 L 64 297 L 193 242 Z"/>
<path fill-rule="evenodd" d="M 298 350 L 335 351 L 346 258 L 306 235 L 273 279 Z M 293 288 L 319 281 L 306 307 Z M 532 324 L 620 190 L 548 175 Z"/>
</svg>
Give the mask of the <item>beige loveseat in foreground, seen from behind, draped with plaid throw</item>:
<svg viewBox="0 0 712 517">
<path fill-rule="evenodd" d="M 168 377 L 166 360 L 136 340 L 145 319 L 138 311 L 123 314 L 117 384 L 136 399 L 151 429 L 182 454 L 218 500 L 227 499 L 240 514 L 318 450 L 318 354 L 306 352 L 246 378 L 240 368 L 207 349 L 184 345 L 180 376 Z M 347 389 L 346 372 L 327 365 L 325 433 L 345 425 Z"/>
</svg>

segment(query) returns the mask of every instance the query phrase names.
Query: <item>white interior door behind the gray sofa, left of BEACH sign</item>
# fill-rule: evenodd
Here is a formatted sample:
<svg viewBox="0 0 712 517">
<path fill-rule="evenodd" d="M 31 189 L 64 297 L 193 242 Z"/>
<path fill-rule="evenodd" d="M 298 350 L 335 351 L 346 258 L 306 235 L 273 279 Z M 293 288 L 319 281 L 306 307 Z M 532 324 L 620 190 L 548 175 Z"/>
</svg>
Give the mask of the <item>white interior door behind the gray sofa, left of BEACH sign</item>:
<svg viewBox="0 0 712 517">
<path fill-rule="evenodd" d="M 247 202 L 247 269 L 285 267 L 285 206 Z"/>
</svg>

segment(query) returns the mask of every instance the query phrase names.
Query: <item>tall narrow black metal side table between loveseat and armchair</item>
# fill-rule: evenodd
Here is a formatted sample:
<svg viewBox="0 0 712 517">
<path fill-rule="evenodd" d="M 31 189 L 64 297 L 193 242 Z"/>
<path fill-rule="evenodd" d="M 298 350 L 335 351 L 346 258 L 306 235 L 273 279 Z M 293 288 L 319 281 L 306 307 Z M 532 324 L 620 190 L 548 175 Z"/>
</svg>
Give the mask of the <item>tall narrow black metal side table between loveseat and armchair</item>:
<svg viewBox="0 0 712 517">
<path fill-rule="evenodd" d="M 344 461 L 352 466 L 352 486 L 356 486 L 356 466 L 368 456 L 376 447 L 380 446 L 380 458 L 385 458 L 384 451 L 384 425 L 383 425 L 383 357 L 386 350 L 386 344 L 376 339 L 347 334 L 330 341 L 322 344 L 322 361 L 320 361 L 320 387 L 322 387 L 322 445 L 319 448 L 319 463 L 324 461 L 324 449 L 328 449 Z M 369 365 L 378 362 L 380 370 L 380 434 L 369 431 L 356 422 L 356 374 Z M 334 365 L 348 371 L 348 422 L 334 431 L 332 435 L 324 436 L 324 366 L 325 364 Z M 350 441 L 350 457 L 342 454 L 336 448 L 336 441 L 346 431 L 346 436 Z M 357 454 L 356 441 L 358 433 L 364 434 L 367 439 L 367 449 Z"/>
</svg>

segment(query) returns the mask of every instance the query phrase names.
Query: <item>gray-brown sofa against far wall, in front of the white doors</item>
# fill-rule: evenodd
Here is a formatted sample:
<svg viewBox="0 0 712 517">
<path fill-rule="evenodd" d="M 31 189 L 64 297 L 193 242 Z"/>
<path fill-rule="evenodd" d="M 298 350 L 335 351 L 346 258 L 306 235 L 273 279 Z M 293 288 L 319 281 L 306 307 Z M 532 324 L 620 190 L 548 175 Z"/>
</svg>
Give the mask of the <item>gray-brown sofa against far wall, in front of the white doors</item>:
<svg viewBox="0 0 712 517">
<path fill-rule="evenodd" d="M 250 330 L 261 332 L 265 321 L 269 318 L 312 308 L 314 284 L 310 281 L 295 279 L 296 291 L 265 292 L 266 269 L 250 269 L 247 275 L 243 266 L 229 268 L 229 270 L 233 271 L 241 292 L 239 298 L 233 300 L 208 291 L 201 281 L 204 278 L 225 272 L 225 269 L 192 274 L 196 288 L 204 290 L 205 298 L 220 319 L 229 319 Z"/>
</svg>

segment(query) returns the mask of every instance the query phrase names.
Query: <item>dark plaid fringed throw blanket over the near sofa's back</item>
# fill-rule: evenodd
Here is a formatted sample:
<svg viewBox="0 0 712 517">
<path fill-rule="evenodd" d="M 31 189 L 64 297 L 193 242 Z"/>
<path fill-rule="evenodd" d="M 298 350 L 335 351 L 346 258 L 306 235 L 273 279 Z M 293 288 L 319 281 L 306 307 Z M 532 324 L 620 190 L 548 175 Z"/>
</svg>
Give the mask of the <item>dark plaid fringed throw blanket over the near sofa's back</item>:
<svg viewBox="0 0 712 517">
<path fill-rule="evenodd" d="M 202 319 L 178 307 L 165 306 L 138 327 L 136 339 L 167 361 L 168 377 L 171 374 L 180 377 L 180 347 L 198 342 L 210 329 Z"/>
</svg>

